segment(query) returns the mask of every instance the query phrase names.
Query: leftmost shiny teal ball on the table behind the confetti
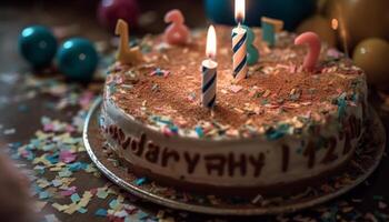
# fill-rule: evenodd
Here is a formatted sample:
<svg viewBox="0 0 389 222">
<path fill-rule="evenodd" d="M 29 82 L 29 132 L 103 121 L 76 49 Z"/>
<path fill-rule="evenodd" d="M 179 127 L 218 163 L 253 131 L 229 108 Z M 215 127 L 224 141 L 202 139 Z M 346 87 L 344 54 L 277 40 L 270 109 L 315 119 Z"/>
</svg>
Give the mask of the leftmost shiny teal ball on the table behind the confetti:
<svg viewBox="0 0 389 222">
<path fill-rule="evenodd" d="M 50 29 L 42 26 L 24 28 L 18 38 L 20 54 L 34 68 L 51 63 L 57 52 L 57 40 Z"/>
</svg>

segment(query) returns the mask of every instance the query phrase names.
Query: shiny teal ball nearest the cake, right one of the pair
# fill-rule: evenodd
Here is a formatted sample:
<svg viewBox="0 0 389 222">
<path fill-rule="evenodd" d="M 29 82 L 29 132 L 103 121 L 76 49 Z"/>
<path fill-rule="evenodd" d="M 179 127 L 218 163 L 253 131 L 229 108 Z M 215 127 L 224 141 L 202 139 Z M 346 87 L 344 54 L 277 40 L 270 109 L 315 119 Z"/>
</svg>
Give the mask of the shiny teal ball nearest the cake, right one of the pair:
<svg viewBox="0 0 389 222">
<path fill-rule="evenodd" d="M 57 53 L 59 71 L 77 81 L 90 81 L 98 60 L 93 43 L 82 38 L 73 38 L 63 42 Z"/>
</svg>

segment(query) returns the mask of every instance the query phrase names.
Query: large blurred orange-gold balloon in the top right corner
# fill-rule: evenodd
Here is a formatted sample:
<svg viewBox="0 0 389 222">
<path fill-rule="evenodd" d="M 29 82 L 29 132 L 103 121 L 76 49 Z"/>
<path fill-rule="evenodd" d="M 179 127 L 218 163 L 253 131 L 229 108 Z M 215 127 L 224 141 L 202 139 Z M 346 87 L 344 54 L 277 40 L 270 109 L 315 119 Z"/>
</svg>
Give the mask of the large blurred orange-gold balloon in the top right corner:
<svg viewBox="0 0 389 222">
<path fill-rule="evenodd" d="M 367 38 L 389 40 L 388 9 L 388 0 L 328 0 L 326 14 L 328 19 L 341 22 L 348 48 L 353 49 Z"/>
</svg>

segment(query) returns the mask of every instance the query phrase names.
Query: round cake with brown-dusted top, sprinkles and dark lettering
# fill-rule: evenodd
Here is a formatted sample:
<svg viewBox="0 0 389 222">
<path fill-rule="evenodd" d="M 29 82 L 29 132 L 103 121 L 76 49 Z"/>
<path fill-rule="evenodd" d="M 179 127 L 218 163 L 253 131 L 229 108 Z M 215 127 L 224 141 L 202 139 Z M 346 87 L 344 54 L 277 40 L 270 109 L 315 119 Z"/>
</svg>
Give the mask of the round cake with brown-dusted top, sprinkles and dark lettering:
<svg viewBox="0 0 389 222">
<path fill-rule="evenodd" d="M 205 31 L 181 47 L 147 36 L 142 62 L 111 65 L 100 118 L 109 148 L 139 176 L 200 192 L 279 194 L 339 174 L 363 133 L 363 72 L 326 44 L 305 71 L 296 36 L 269 48 L 255 29 L 260 61 L 236 83 L 231 29 L 217 27 L 211 110 L 200 103 Z"/>
</svg>

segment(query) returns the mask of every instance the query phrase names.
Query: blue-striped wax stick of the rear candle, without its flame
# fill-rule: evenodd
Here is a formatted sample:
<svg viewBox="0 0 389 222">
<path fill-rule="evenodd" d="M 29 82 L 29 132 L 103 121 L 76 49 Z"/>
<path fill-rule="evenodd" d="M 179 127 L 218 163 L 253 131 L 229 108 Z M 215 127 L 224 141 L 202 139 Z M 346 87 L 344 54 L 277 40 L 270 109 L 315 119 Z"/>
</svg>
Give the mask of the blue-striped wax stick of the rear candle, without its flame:
<svg viewBox="0 0 389 222">
<path fill-rule="evenodd" d="M 232 65 L 236 82 L 247 75 L 247 31 L 241 26 L 232 30 Z"/>
</svg>

